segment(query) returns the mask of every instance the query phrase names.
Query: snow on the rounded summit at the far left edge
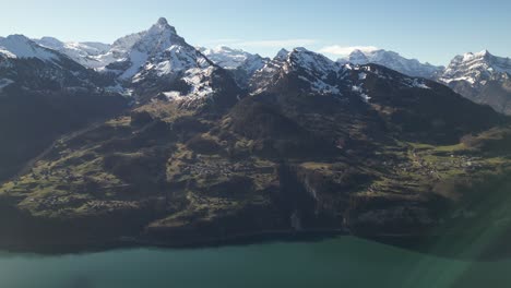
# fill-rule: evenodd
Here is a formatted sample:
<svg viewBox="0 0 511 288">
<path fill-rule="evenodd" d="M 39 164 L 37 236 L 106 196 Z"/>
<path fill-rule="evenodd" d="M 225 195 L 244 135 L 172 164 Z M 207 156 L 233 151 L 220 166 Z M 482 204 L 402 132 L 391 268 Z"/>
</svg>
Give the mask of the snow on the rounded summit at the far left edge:
<svg viewBox="0 0 511 288">
<path fill-rule="evenodd" d="M 43 61 L 55 61 L 59 56 L 40 47 L 23 35 L 10 35 L 0 37 L 0 55 L 7 58 L 37 58 Z"/>
</svg>

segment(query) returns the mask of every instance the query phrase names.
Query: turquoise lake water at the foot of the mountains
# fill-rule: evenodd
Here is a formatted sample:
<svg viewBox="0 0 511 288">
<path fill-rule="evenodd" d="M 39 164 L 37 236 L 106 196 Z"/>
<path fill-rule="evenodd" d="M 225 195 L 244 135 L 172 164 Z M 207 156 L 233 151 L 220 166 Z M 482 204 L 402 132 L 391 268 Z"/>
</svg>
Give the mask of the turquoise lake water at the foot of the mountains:
<svg viewBox="0 0 511 288">
<path fill-rule="evenodd" d="M 465 262 L 353 237 L 207 249 L 0 254 L 1 288 L 511 287 L 511 261 Z"/>
</svg>

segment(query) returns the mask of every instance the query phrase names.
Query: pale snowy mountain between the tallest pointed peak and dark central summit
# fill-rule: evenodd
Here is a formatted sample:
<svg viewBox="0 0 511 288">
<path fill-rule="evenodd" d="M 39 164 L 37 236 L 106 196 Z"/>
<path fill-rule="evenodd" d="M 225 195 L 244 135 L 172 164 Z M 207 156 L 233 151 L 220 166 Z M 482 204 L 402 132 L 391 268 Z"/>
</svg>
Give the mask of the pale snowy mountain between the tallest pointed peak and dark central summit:
<svg viewBox="0 0 511 288">
<path fill-rule="evenodd" d="M 270 61 L 270 59 L 262 58 L 259 55 L 225 46 L 215 49 L 199 48 L 199 50 L 215 64 L 231 72 L 236 83 L 243 88 L 248 86 L 255 71 Z"/>
</svg>

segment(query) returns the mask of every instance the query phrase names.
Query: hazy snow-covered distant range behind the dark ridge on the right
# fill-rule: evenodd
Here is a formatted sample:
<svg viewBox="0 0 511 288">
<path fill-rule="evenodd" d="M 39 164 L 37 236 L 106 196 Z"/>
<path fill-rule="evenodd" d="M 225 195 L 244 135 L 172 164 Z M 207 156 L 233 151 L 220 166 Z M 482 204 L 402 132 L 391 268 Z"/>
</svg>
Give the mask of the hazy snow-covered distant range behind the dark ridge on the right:
<svg viewBox="0 0 511 288">
<path fill-rule="evenodd" d="M 356 50 L 338 61 L 376 63 L 406 75 L 435 80 L 475 103 L 489 105 L 498 112 L 511 115 L 511 59 L 492 56 L 487 50 L 456 56 L 447 68 L 420 63 L 385 50 Z"/>
</svg>

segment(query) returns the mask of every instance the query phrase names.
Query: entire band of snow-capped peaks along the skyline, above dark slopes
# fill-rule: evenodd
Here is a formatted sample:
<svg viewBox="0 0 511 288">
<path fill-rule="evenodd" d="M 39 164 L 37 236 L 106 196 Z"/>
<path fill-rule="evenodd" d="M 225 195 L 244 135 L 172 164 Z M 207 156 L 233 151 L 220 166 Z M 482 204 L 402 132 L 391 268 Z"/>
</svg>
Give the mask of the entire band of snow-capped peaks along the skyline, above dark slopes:
<svg viewBox="0 0 511 288">
<path fill-rule="evenodd" d="M 22 64 L 25 60 L 32 67 Z M 346 88 L 340 83 L 350 64 L 368 63 L 438 81 L 473 101 L 511 113 L 511 60 L 488 51 L 457 56 L 447 69 L 388 50 L 355 50 L 333 62 L 296 48 L 268 59 L 228 47 L 194 48 L 165 19 L 111 45 L 63 43 L 52 37 L 31 40 L 22 35 L 0 38 L 0 89 L 14 83 L 36 89 L 87 87 L 133 93 L 142 101 L 161 97 L 191 103 L 212 99 L 226 87 L 233 94 L 239 94 L 238 87 L 264 91 L 292 73 L 300 76 L 295 83 L 298 88 L 305 85 L 312 93 L 335 94 Z M 357 87 L 352 92 L 361 91 Z"/>
</svg>

